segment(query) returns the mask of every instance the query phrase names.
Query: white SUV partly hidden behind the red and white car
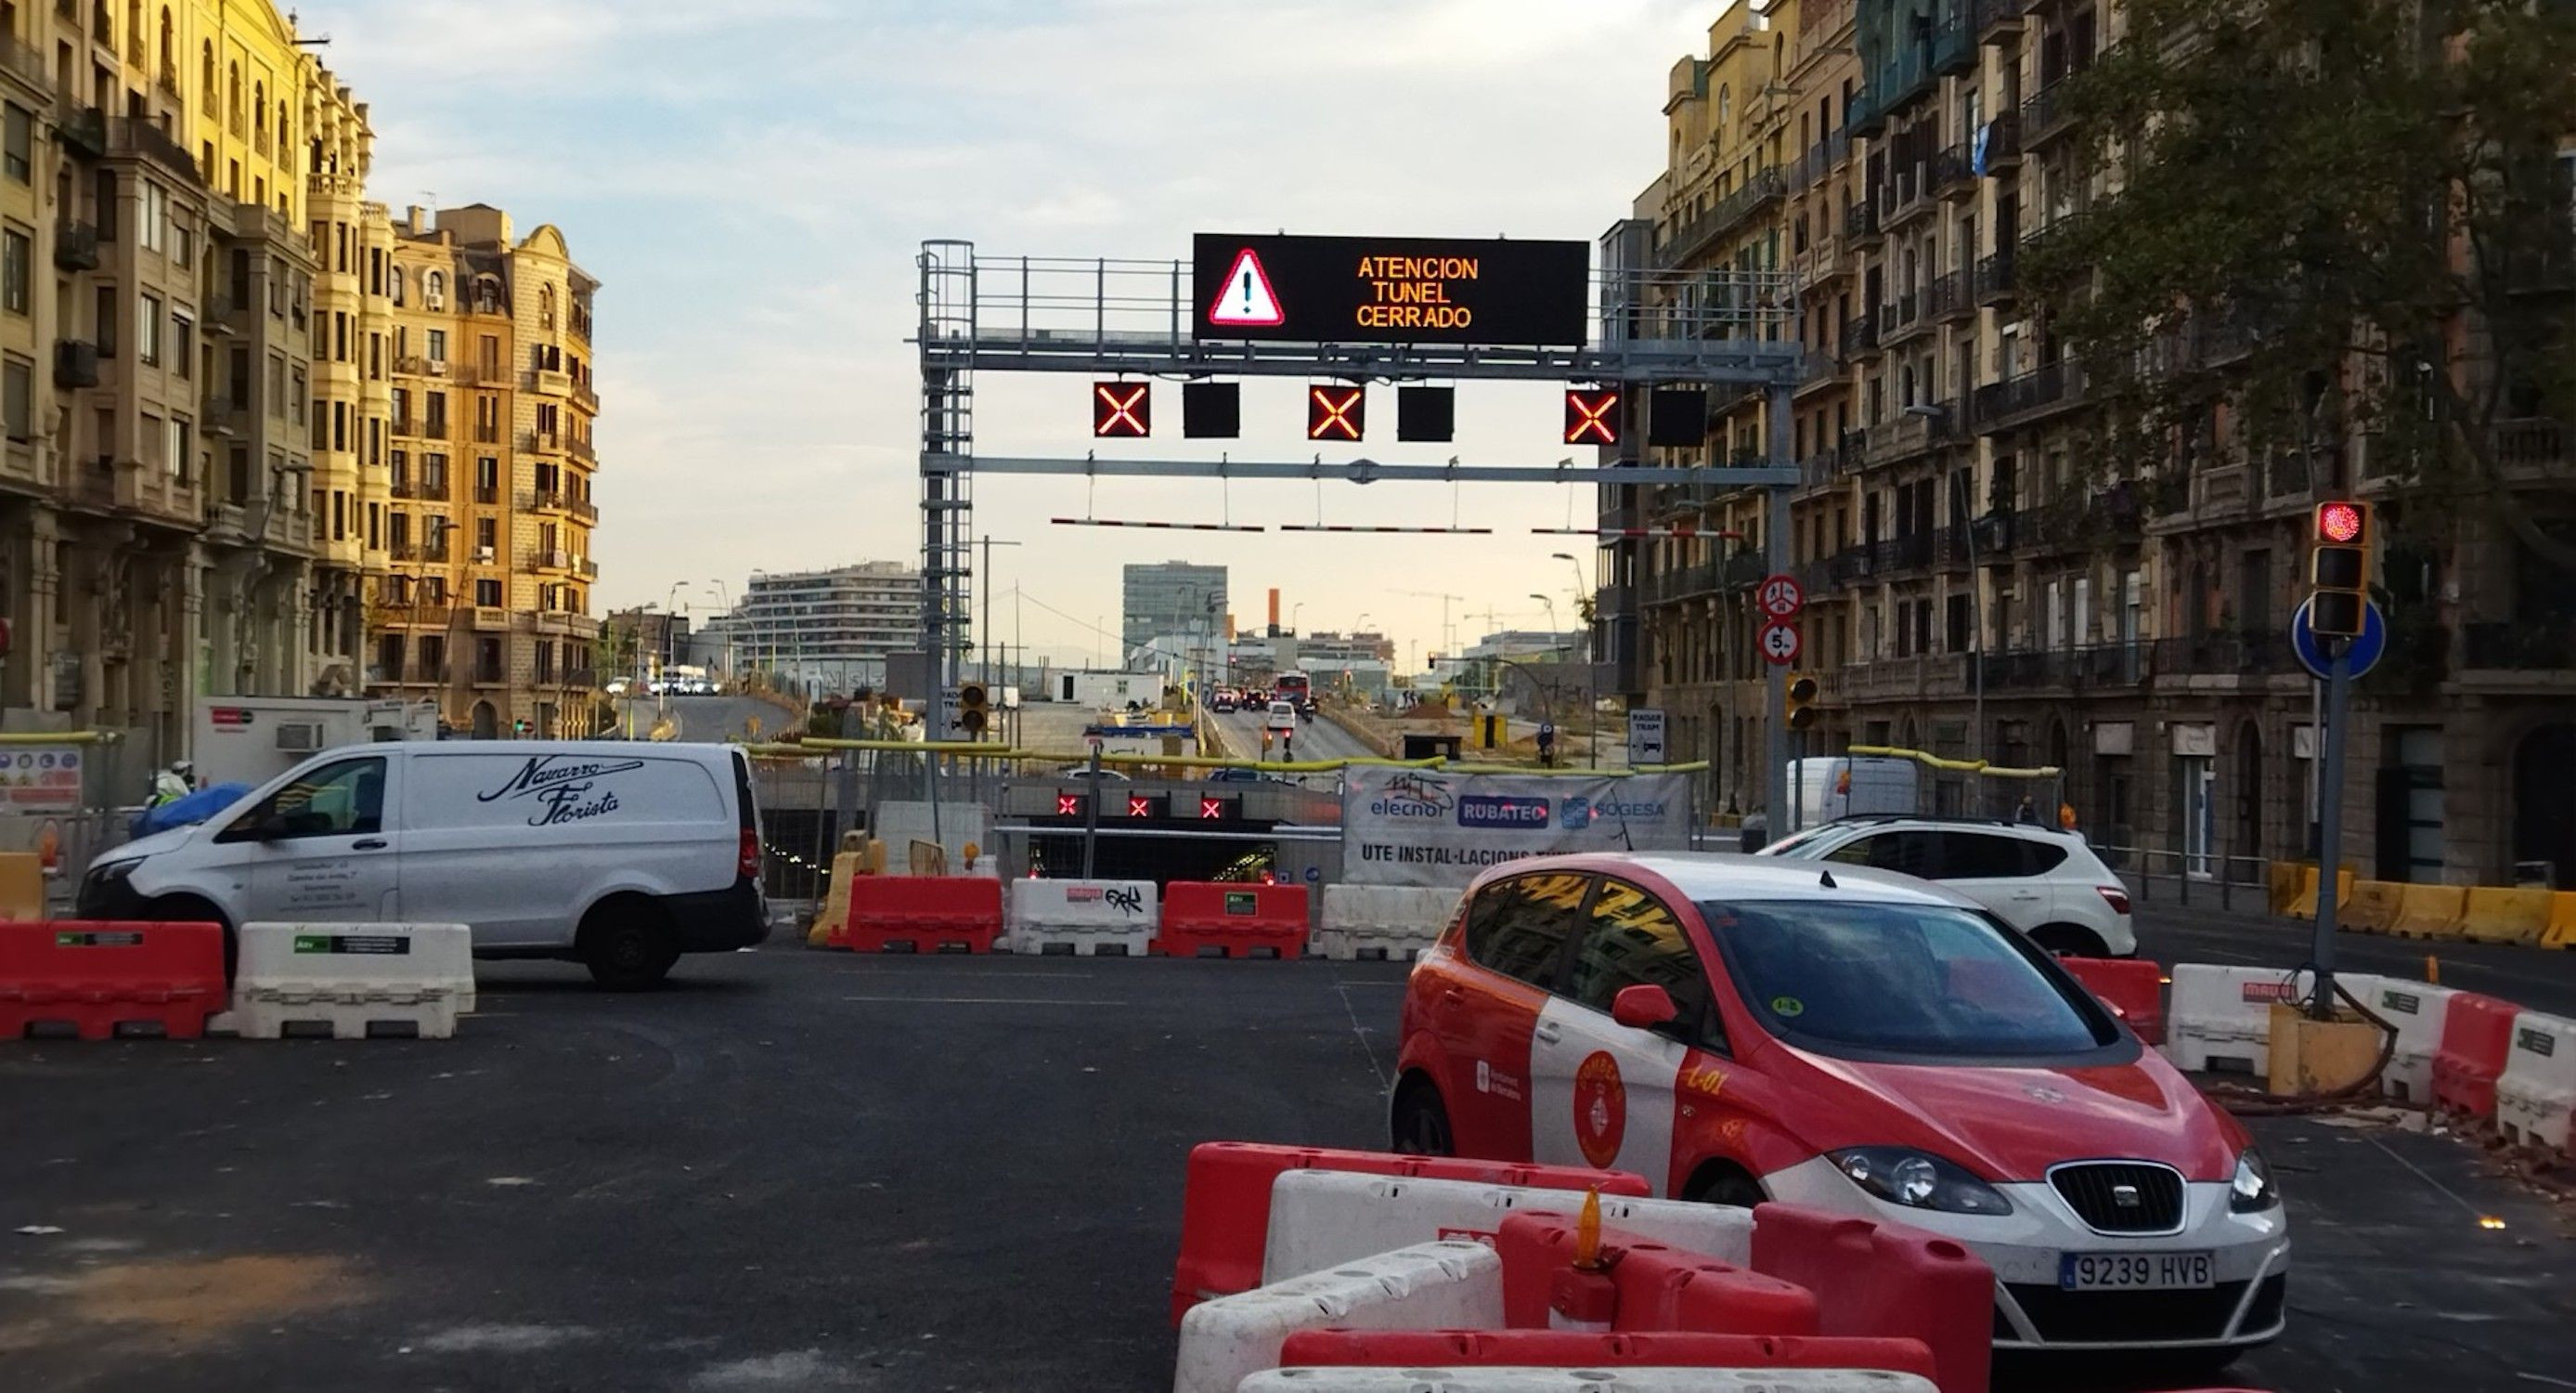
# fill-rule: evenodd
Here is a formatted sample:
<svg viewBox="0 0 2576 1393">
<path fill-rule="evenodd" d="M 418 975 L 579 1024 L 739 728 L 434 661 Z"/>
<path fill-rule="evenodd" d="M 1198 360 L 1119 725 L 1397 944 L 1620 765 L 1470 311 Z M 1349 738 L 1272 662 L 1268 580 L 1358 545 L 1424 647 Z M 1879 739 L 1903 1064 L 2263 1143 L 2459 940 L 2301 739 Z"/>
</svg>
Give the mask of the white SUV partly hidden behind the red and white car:
<svg viewBox="0 0 2576 1393">
<path fill-rule="evenodd" d="M 2027 821 L 1855 816 L 1772 842 L 1762 855 L 1940 881 L 2061 958 L 2138 955 L 2128 888 L 2074 832 Z"/>
</svg>

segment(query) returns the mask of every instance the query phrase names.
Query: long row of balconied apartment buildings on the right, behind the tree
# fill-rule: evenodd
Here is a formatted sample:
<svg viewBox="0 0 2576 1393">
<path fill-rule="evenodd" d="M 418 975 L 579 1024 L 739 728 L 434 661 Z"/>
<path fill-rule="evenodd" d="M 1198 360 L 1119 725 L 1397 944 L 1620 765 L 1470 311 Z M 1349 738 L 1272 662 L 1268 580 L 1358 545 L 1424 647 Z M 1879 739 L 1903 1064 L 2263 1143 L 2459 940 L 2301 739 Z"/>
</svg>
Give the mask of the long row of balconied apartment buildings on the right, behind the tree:
<svg viewBox="0 0 2576 1393">
<path fill-rule="evenodd" d="M 2213 438 L 2187 469 L 2107 476 L 2079 363 L 2022 304 L 2014 263 L 2110 188 L 2063 82 L 2120 41 L 2102 0 L 1739 0 L 1667 88 L 1669 162 L 1613 229 L 1636 265 L 1770 268 L 1798 286 L 1806 373 L 1793 554 L 1824 687 L 1808 747 L 1901 744 L 2063 770 L 2102 845 L 2156 873 L 2251 878 L 2308 847 L 2313 690 L 2287 649 L 2321 497 L 2393 497 L 2370 440 L 2249 458 Z M 2571 291 L 2563 276 L 2532 294 Z M 2463 332 L 2455 342 L 2473 345 Z M 2226 368 L 2246 330 L 2172 353 Z M 2463 348 L 2463 353 L 2468 353 Z M 2463 371 L 2478 371 L 2463 363 Z M 1718 402 L 1667 458 L 1759 448 L 1759 399 Z M 2499 427 L 2509 481 L 2566 497 L 2568 427 Z M 1762 798 L 1749 587 L 1762 507 L 1723 489 L 1605 489 L 1605 525 L 1695 518 L 1736 541 L 1620 541 L 1602 623 L 1633 626 L 1631 700 L 1664 706 L 1674 757 L 1713 760 L 1705 803 Z M 2388 881 L 2576 883 L 2576 621 L 2563 584 L 2465 518 L 2391 556 L 2393 651 L 2354 703 L 2347 857 Z M 1935 780 L 1945 811 L 2009 796 Z"/>
</svg>

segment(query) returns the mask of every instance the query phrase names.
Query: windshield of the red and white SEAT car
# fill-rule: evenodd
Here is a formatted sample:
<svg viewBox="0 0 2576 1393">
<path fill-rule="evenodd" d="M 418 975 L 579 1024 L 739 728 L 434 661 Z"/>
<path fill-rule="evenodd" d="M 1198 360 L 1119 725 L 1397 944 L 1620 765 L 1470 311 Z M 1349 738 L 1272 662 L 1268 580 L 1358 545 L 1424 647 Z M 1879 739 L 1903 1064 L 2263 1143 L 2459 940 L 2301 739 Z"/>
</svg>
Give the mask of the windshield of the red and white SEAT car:
<svg viewBox="0 0 2576 1393">
<path fill-rule="evenodd" d="M 1744 1004 L 1775 1035 L 1870 1058 L 2058 1058 L 2117 1040 L 2004 927 L 1945 904 L 1703 901 Z"/>
</svg>

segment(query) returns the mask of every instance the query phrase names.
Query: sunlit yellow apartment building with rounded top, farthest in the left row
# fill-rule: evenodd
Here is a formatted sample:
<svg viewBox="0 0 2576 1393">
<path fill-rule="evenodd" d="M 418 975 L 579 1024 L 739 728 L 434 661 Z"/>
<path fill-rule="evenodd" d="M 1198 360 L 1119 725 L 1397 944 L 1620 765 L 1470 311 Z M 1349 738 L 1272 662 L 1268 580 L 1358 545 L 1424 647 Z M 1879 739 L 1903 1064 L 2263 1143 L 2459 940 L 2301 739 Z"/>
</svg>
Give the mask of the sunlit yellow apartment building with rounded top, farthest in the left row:
<svg viewBox="0 0 2576 1393">
<path fill-rule="evenodd" d="M 590 615 L 598 281 L 564 234 L 487 203 L 389 227 L 386 500 L 371 687 L 471 736 L 587 736 L 605 713 Z M 379 353 L 368 342 L 368 353 Z"/>
</svg>

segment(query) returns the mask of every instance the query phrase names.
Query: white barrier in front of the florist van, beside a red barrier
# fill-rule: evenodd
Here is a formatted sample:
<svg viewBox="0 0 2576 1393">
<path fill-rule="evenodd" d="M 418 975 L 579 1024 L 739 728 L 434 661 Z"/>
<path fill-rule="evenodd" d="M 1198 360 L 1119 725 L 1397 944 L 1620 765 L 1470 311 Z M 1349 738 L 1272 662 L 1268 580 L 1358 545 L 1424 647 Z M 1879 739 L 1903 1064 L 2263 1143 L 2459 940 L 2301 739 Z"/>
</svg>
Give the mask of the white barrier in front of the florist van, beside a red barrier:
<svg viewBox="0 0 2576 1393">
<path fill-rule="evenodd" d="M 456 1035 L 474 1009 L 474 935 L 464 924 L 242 924 L 232 1009 L 209 1022 L 250 1040 L 330 1025 L 335 1040 L 410 1025 Z"/>
</svg>

